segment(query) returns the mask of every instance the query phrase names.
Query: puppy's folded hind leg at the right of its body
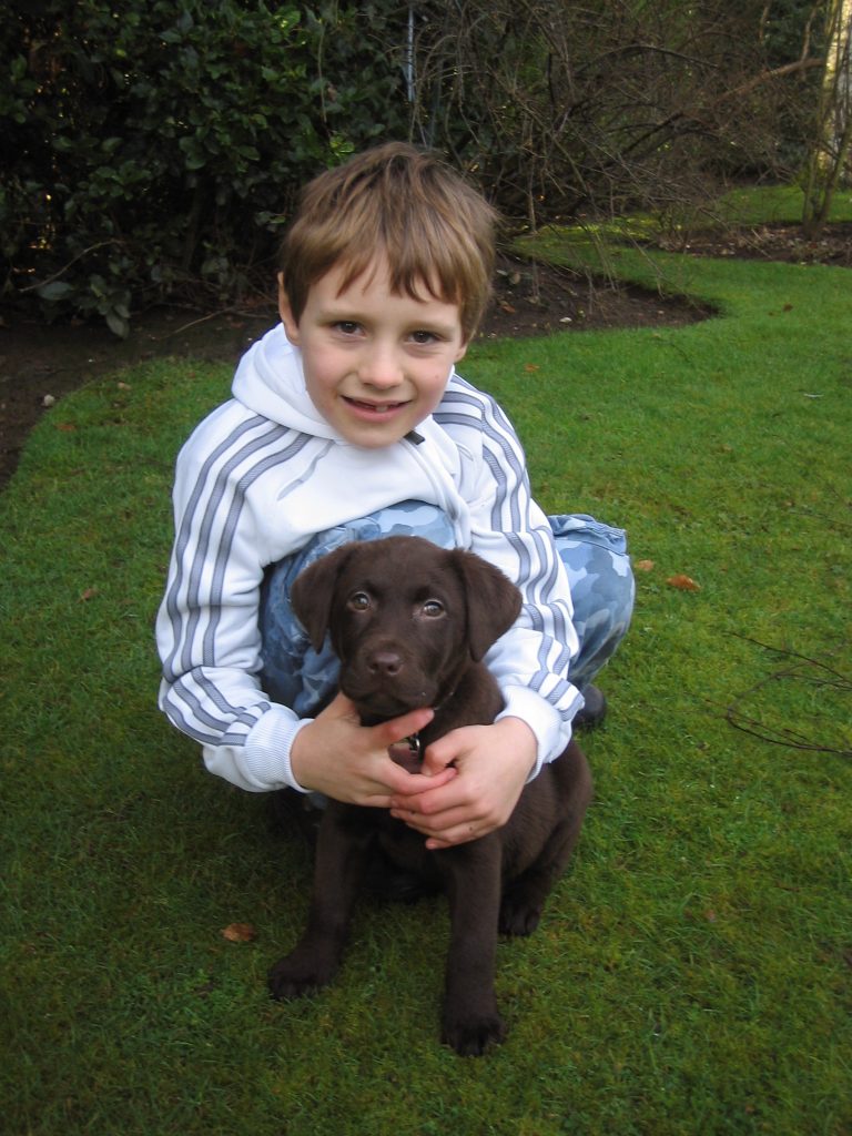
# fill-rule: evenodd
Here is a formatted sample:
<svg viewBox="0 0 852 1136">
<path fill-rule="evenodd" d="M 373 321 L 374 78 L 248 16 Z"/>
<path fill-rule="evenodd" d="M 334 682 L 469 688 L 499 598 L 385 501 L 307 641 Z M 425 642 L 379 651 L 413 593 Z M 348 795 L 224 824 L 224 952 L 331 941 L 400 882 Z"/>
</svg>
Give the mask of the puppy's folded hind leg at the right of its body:
<svg viewBox="0 0 852 1136">
<path fill-rule="evenodd" d="M 565 871 L 592 800 L 592 772 L 576 742 L 570 742 L 554 767 L 540 776 L 554 779 L 561 816 L 537 860 L 503 892 L 500 930 L 504 935 L 531 935 L 538 926 L 544 901 Z"/>
</svg>

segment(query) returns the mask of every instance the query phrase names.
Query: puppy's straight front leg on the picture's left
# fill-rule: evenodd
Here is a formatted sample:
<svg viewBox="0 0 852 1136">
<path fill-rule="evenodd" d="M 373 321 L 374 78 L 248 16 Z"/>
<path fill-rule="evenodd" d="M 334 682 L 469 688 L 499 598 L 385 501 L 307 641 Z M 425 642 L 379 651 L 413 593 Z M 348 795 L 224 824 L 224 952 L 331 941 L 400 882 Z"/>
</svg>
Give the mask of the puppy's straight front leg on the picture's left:
<svg viewBox="0 0 852 1136">
<path fill-rule="evenodd" d="M 326 986 L 336 974 L 369 843 L 369 833 L 354 827 L 343 810 L 329 802 L 317 836 L 308 926 L 295 949 L 269 970 L 273 997 L 301 997 Z"/>
</svg>

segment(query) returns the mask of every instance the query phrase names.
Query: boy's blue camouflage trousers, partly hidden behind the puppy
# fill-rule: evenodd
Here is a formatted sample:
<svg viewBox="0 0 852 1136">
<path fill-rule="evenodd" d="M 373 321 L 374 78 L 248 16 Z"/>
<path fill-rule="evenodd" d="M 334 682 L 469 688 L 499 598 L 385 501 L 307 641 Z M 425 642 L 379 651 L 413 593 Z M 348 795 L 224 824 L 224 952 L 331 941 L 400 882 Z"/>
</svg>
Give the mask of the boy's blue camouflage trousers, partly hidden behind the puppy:
<svg viewBox="0 0 852 1136">
<path fill-rule="evenodd" d="M 620 528 L 583 513 L 548 519 L 571 588 L 579 654 L 570 679 L 582 691 L 627 632 L 635 593 L 633 571 Z M 337 685 L 337 660 L 328 641 L 315 651 L 290 605 L 290 588 L 299 573 L 350 541 L 411 535 L 441 548 L 454 546 L 452 525 L 441 509 L 403 501 L 318 533 L 299 552 L 267 570 L 260 598 L 261 682 L 270 698 L 300 718 L 311 718 Z"/>
</svg>

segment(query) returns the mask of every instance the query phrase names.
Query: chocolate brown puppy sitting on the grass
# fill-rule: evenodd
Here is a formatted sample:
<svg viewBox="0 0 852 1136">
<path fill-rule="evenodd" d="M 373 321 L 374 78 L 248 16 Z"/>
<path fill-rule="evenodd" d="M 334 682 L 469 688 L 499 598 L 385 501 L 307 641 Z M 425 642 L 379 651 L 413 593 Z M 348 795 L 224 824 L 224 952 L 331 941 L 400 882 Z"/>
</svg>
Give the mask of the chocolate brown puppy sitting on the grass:
<svg viewBox="0 0 852 1136">
<path fill-rule="evenodd" d="M 341 690 L 365 725 L 434 707 L 415 746 L 425 749 L 458 726 L 492 722 L 502 709 L 481 660 L 515 623 L 520 594 L 479 557 L 409 536 L 348 544 L 302 573 L 291 601 L 317 650 L 331 633 Z M 443 851 L 428 852 L 420 834 L 383 809 L 329 802 L 308 927 L 269 971 L 273 995 L 296 997 L 331 982 L 378 841 L 392 862 L 449 895 L 442 1041 L 461 1054 L 484 1053 L 506 1034 L 494 994 L 498 929 L 535 929 L 591 797 L 588 763 L 571 742 L 526 786 L 503 828 Z"/>
</svg>

